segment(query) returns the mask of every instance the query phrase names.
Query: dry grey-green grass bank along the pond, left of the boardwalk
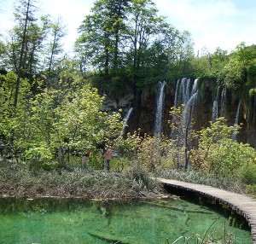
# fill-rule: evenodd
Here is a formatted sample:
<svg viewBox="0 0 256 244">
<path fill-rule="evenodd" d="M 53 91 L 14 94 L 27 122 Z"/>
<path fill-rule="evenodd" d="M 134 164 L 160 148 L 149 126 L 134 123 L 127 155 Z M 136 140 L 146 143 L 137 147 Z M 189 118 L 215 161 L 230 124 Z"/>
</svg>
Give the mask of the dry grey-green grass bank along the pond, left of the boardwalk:
<svg viewBox="0 0 256 244">
<path fill-rule="evenodd" d="M 89 197 L 134 199 L 161 193 L 160 183 L 140 168 L 123 173 L 73 167 L 61 171 L 30 171 L 1 162 L 0 195 L 14 197 Z"/>
</svg>

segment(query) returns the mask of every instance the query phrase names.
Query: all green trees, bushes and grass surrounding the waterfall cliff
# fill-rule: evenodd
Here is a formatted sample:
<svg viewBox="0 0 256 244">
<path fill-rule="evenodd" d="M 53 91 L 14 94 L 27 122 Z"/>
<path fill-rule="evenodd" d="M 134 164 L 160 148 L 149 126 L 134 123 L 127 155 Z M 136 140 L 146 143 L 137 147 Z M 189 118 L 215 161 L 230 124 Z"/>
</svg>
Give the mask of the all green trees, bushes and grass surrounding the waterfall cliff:
<svg viewBox="0 0 256 244">
<path fill-rule="evenodd" d="M 247 102 L 243 117 L 255 125 L 255 45 L 241 40 L 230 53 L 218 48 L 198 55 L 189 30 L 168 23 L 154 1 L 96 0 L 69 56 L 63 49 L 65 24 L 40 15 L 37 4 L 16 0 L 15 26 L 8 38 L 0 36 L 1 195 L 149 195 L 157 189 L 151 174 L 205 179 L 256 195 L 256 150 L 231 138 L 241 125 L 219 118 L 200 131 L 183 127 L 174 139 L 139 128 L 122 135 L 122 111 L 102 110 L 106 94 L 118 98 L 132 90 L 138 106 L 139 91 L 163 80 L 175 87 L 177 79 L 189 77 L 239 93 Z M 180 115 L 180 107 L 170 107 L 170 116 Z M 172 121 L 169 126 L 180 127 Z M 193 148 L 188 139 L 196 142 Z M 111 162 L 113 177 L 103 174 L 106 145 L 119 154 Z"/>
</svg>

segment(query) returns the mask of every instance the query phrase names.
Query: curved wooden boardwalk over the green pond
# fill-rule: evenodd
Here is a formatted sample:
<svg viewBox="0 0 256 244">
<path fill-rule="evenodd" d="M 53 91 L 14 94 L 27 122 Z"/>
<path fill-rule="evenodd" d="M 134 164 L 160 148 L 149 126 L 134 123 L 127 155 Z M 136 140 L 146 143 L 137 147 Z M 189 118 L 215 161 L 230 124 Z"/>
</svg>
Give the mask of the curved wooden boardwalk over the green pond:
<svg viewBox="0 0 256 244">
<path fill-rule="evenodd" d="M 256 244 L 256 200 L 247 196 L 232 193 L 224 189 L 217 189 L 207 185 L 201 185 L 196 183 L 184 183 L 177 180 L 170 180 L 164 178 L 156 178 L 161 183 L 168 185 L 175 189 L 184 189 L 192 192 L 196 192 L 207 198 L 223 202 L 230 206 L 230 208 L 244 218 L 247 219 L 247 223 L 251 228 L 253 237 L 253 244 Z"/>
</svg>

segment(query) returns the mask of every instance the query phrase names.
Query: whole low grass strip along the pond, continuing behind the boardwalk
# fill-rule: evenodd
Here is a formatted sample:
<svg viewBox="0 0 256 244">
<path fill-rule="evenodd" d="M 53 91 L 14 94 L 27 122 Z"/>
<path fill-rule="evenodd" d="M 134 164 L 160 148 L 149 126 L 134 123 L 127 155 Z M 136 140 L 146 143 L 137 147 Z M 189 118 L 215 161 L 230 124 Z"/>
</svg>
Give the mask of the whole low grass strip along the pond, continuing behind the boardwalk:
<svg viewBox="0 0 256 244">
<path fill-rule="evenodd" d="M 161 169 L 149 173 L 140 166 L 127 166 L 124 171 L 106 172 L 90 166 L 55 171 L 32 171 L 26 164 L 1 162 L 0 195 L 14 197 L 88 197 L 98 199 L 133 199 L 165 194 L 153 177 L 201 183 L 219 189 L 253 196 L 241 180 L 218 177 L 193 170 Z M 251 186 L 253 187 L 253 186 Z M 254 195 L 255 196 L 255 195 Z"/>
</svg>

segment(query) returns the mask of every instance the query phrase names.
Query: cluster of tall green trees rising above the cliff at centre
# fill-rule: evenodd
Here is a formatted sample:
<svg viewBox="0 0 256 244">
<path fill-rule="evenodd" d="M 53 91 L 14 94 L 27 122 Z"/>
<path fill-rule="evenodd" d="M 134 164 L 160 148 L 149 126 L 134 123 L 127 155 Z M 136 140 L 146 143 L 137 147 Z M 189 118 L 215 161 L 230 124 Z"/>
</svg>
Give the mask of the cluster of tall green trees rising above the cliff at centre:
<svg viewBox="0 0 256 244">
<path fill-rule="evenodd" d="M 97 71 L 97 88 L 118 95 L 124 81 L 145 86 L 189 72 L 190 33 L 157 14 L 151 0 L 96 1 L 79 27 L 76 52 L 83 72 Z"/>
</svg>

